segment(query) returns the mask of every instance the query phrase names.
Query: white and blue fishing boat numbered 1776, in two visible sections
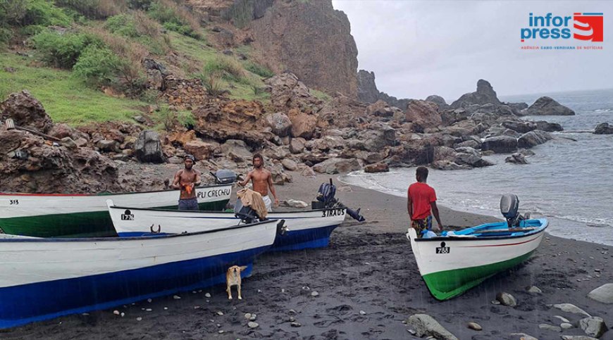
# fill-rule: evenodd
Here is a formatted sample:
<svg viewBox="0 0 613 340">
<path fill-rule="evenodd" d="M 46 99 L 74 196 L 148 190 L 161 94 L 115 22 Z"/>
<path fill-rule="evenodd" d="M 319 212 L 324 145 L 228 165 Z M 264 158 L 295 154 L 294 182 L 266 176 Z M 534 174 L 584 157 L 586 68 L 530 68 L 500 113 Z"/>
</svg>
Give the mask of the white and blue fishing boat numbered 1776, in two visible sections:
<svg viewBox="0 0 613 340">
<path fill-rule="evenodd" d="M 234 212 L 161 210 L 116 206 L 109 200 L 109 215 L 120 237 L 181 234 L 236 225 L 244 218 Z M 328 246 L 330 234 L 345 220 L 347 208 L 323 208 L 268 213 L 285 220 L 287 232 L 278 235 L 270 251 L 291 251 Z"/>
</svg>

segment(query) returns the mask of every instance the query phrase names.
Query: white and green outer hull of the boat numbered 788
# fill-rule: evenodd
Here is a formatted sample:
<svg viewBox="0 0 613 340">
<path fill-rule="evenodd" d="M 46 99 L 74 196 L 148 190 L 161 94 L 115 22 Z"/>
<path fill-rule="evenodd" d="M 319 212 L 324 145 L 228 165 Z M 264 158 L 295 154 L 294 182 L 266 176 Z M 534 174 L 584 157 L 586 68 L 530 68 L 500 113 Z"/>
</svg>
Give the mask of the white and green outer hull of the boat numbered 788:
<svg viewBox="0 0 613 340">
<path fill-rule="evenodd" d="M 428 290 L 438 300 L 447 300 L 530 258 L 543 240 L 545 227 L 547 222 L 513 237 L 433 239 L 416 239 L 415 230 L 409 228 L 407 237 Z"/>
</svg>

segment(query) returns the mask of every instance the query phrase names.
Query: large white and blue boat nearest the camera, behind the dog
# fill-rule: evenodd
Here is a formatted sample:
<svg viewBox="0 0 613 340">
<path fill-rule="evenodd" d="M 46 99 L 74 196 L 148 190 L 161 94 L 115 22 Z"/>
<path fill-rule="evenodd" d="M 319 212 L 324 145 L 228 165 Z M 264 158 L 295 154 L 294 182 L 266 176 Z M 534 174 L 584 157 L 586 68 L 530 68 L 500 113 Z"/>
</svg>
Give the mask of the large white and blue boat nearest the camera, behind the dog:
<svg viewBox="0 0 613 340">
<path fill-rule="evenodd" d="M 225 282 L 266 251 L 283 221 L 193 234 L 36 238 L 0 234 L 0 328 Z"/>
</svg>

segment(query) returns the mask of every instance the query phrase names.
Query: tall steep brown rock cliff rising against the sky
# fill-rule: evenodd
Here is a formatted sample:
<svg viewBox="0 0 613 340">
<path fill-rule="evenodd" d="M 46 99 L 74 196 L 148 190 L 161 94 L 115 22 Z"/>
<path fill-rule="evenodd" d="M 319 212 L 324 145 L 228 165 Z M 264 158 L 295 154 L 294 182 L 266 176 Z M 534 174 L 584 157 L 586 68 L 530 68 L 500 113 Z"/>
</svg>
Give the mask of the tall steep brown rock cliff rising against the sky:
<svg viewBox="0 0 613 340">
<path fill-rule="evenodd" d="M 235 37 L 246 35 L 274 73 L 290 71 L 311 88 L 357 96 L 357 46 L 347 15 L 335 11 L 331 0 L 220 2 L 190 0 L 233 23 Z"/>
</svg>

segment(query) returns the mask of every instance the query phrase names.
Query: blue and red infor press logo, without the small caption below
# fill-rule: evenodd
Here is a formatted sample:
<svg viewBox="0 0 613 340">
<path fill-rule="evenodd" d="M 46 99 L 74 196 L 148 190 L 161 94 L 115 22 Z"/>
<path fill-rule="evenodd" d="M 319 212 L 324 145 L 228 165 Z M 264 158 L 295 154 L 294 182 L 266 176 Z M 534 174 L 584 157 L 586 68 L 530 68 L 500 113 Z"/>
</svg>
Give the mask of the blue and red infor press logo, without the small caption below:
<svg viewBox="0 0 613 340">
<path fill-rule="evenodd" d="M 603 13 L 540 16 L 530 13 L 528 27 L 521 28 L 521 42 L 531 39 L 576 39 L 583 42 L 603 41 Z"/>
</svg>

